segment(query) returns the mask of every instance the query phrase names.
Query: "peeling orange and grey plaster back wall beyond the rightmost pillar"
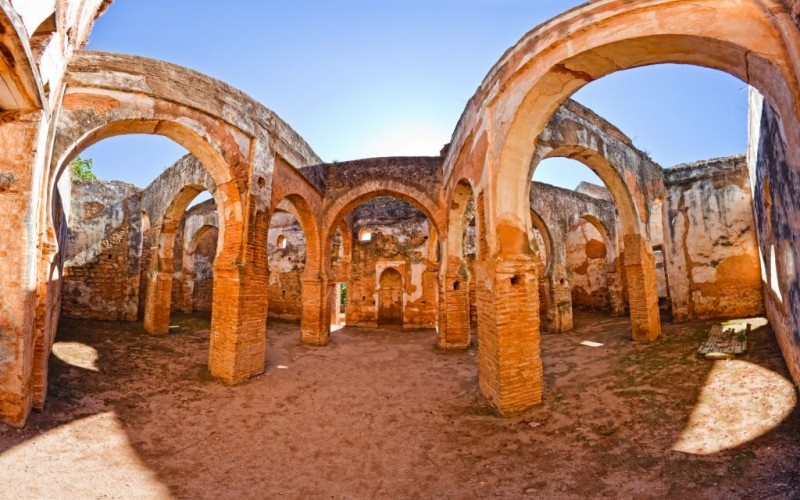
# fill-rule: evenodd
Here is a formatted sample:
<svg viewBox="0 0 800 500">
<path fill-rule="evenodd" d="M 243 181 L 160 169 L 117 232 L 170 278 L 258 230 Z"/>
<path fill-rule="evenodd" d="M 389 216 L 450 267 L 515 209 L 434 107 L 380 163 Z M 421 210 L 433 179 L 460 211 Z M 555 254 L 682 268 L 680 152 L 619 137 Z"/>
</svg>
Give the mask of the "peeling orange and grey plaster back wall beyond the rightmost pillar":
<svg viewBox="0 0 800 500">
<path fill-rule="evenodd" d="M 674 321 L 763 314 L 744 156 L 664 171 L 664 252 Z"/>
</svg>

